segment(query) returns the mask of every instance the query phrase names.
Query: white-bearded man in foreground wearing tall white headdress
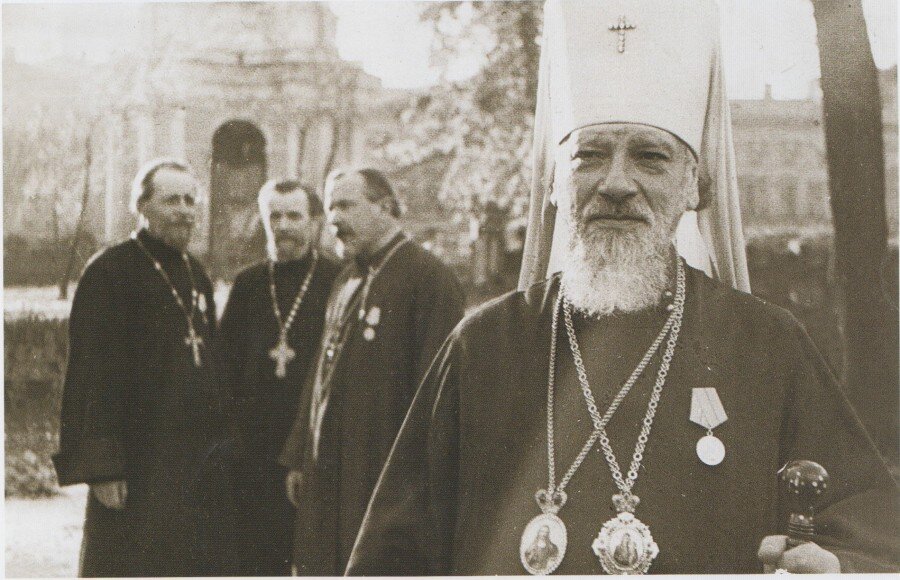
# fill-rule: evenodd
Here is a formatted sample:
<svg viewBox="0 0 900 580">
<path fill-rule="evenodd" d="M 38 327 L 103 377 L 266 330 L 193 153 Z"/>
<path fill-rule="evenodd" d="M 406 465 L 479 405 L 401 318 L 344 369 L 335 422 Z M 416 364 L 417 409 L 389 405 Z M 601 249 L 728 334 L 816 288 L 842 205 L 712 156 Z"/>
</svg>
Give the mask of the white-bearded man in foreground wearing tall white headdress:
<svg viewBox="0 0 900 580">
<path fill-rule="evenodd" d="M 800 324 L 745 293 L 719 23 L 547 3 L 524 289 L 441 349 L 350 574 L 897 570 L 896 483 Z M 830 474 L 787 478 L 814 525 L 793 460 Z"/>
</svg>

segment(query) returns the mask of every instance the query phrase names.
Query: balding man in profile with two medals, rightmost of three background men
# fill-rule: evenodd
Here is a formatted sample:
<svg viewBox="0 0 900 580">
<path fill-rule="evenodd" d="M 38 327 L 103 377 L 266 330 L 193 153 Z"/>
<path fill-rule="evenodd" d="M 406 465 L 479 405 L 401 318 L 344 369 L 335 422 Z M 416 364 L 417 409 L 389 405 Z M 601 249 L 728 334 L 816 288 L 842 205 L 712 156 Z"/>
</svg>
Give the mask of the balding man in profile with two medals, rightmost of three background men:
<svg viewBox="0 0 900 580">
<path fill-rule="evenodd" d="M 340 171 L 326 213 L 352 260 L 281 454 L 297 506 L 300 575 L 342 574 L 388 451 L 434 355 L 463 315 L 456 277 L 400 229 L 377 170 Z"/>
</svg>

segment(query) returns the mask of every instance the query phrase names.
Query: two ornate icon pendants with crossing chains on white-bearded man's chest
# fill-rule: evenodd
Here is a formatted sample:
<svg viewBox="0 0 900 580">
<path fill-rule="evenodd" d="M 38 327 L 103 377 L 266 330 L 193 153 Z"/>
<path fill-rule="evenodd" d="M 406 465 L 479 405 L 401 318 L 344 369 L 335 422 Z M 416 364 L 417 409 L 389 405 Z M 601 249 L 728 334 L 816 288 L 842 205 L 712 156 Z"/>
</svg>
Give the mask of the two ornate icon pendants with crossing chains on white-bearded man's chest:
<svg viewBox="0 0 900 580">
<path fill-rule="evenodd" d="M 676 292 L 674 301 L 670 305 L 672 307 L 667 308 L 669 315 L 666 318 L 666 322 L 659 331 L 656 339 L 650 345 L 650 348 L 644 354 L 640 363 L 638 363 L 637 367 L 631 373 L 631 376 L 625 381 L 625 384 L 622 385 L 622 388 L 610 402 L 606 412 L 601 416 L 590 384 L 588 383 L 587 371 L 584 367 L 581 349 L 575 335 L 575 326 L 572 322 L 572 306 L 568 300 L 565 299 L 565 289 L 560 288 L 551 323 L 550 364 L 547 380 L 547 471 L 549 485 L 547 489 L 539 490 L 535 494 L 535 500 L 542 513 L 534 517 L 525 527 L 519 545 L 519 555 L 522 565 L 530 574 L 551 574 L 562 563 L 569 543 L 566 526 L 559 515 L 560 510 L 565 506 L 568 499 L 564 489 L 598 441 L 603 450 L 606 462 L 609 465 L 613 481 L 619 489 L 619 493 L 612 497 L 613 507 L 616 512 L 618 512 L 618 515 L 602 524 L 597 537 L 590 546 L 599 559 L 600 566 L 607 574 L 643 574 L 650 568 L 653 559 L 659 554 L 659 547 L 656 545 L 656 542 L 653 541 L 649 526 L 641 522 L 635 516 L 635 511 L 640 503 L 640 498 L 633 494 L 631 490 L 637 482 L 641 462 L 644 457 L 644 450 L 650 437 L 650 428 L 653 425 L 656 408 L 659 404 L 662 389 L 666 382 L 666 375 L 669 372 L 669 365 L 672 362 L 672 357 L 675 353 L 675 345 L 678 342 L 678 334 L 681 330 L 681 321 L 684 316 L 684 301 L 685 270 L 684 265 L 679 259 L 677 266 Z M 553 435 L 553 399 L 556 372 L 557 328 L 559 325 L 560 310 L 562 310 L 564 316 L 566 333 L 569 338 L 569 347 L 575 362 L 575 369 L 581 386 L 581 392 L 584 395 L 588 413 L 594 424 L 594 430 L 581 447 L 581 451 L 578 453 L 578 456 L 575 458 L 571 467 L 569 467 L 569 470 L 563 475 L 559 484 L 557 484 L 554 459 L 556 451 Z M 647 404 L 647 413 L 641 424 L 640 434 L 638 435 L 637 443 L 635 444 L 634 454 L 628 473 L 626 476 L 623 476 L 622 470 L 619 468 L 619 463 L 616 460 L 615 453 L 613 452 L 612 445 L 610 444 L 609 436 L 606 432 L 606 425 L 609 423 L 610 419 L 612 419 L 616 409 L 622 404 L 625 396 L 637 382 L 638 378 L 643 374 L 644 369 L 653 359 L 663 343 L 665 343 L 666 347 L 659 364 L 656 382 L 650 394 L 650 401 Z"/>
</svg>

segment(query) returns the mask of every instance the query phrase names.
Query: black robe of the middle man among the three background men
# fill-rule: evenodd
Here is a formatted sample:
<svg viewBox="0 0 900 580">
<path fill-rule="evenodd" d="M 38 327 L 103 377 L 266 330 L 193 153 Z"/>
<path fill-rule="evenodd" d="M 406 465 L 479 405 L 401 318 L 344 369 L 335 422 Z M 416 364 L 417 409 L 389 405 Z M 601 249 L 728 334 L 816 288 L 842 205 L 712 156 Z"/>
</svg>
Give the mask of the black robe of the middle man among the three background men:
<svg viewBox="0 0 900 580">
<path fill-rule="evenodd" d="M 312 262 L 277 262 L 274 278 L 283 320 L 289 316 Z M 277 457 L 297 413 L 303 377 L 322 335 L 325 303 L 338 273 L 319 258 L 288 330 L 294 358 L 284 377 L 275 374 L 269 351 L 280 327 L 272 307 L 269 267 L 257 264 L 234 281 L 218 332 L 221 384 L 235 437 L 236 552 L 241 576 L 286 576 L 291 572 L 295 510 L 287 498 L 287 470 Z"/>
</svg>

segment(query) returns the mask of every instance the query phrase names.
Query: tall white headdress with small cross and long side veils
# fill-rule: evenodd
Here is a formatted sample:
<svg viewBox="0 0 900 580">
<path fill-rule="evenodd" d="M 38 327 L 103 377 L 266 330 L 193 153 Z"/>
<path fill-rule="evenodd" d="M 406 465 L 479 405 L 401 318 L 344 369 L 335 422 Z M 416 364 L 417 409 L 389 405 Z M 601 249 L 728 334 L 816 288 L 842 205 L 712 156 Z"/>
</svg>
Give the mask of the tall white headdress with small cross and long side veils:
<svg viewBox="0 0 900 580">
<path fill-rule="evenodd" d="M 679 252 L 749 291 L 715 1 L 549 0 L 543 43 L 519 286 L 558 271 L 566 249 L 551 192 L 556 147 L 581 127 L 640 123 L 687 143 L 708 190 L 706 208 L 682 220 Z"/>
</svg>

